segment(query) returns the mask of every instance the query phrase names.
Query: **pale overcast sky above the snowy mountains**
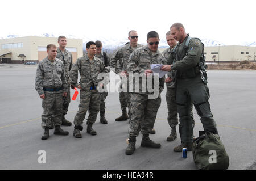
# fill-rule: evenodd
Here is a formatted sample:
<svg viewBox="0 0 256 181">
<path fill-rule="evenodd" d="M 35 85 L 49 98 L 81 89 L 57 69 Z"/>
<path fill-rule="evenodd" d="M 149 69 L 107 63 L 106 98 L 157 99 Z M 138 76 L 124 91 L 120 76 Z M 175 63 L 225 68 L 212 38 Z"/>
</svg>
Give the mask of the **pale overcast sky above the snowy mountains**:
<svg viewBox="0 0 256 181">
<path fill-rule="evenodd" d="M 255 4 L 253 0 L 8 0 L 0 2 L 0 37 L 53 33 L 108 39 L 137 30 L 146 40 L 149 31 L 164 37 L 173 23 L 180 22 L 192 37 L 238 45 L 256 41 Z"/>
</svg>

